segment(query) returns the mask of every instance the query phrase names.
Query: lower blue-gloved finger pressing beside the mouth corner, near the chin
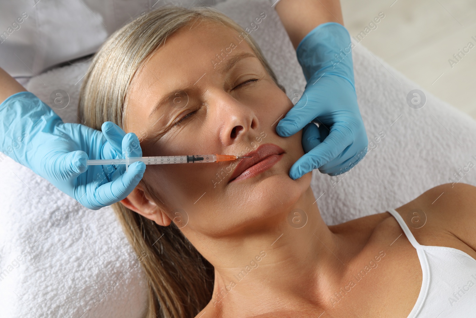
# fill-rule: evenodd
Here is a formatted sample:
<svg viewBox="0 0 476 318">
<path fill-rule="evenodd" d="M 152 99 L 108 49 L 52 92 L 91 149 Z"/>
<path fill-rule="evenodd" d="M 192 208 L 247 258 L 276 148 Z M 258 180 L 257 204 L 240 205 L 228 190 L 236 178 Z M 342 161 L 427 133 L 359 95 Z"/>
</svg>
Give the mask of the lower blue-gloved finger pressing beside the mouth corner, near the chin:
<svg viewBox="0 0 476 318">
<path fill-rule="evenodd" d="M 351 134 L 344 124 L 336 123 L 324 141 L 299 158 L 289 171 L 289 176 L 296 180 L 309 171 L 336 158 L 352 143 Z"/>
</svg>

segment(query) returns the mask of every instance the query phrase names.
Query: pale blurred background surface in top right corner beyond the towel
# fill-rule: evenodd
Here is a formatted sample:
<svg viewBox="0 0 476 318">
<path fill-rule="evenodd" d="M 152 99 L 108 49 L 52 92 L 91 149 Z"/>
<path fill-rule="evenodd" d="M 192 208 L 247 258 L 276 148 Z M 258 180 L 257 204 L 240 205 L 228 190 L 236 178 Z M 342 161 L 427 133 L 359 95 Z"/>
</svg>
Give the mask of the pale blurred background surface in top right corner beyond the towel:
<svg viewBox="0 0 476 318">
<path fill-rule="evenodd" d="M 385 14 L 360 43 L 476 119 L 476 0 L 341 0 L 341 5 L 344 24 L 356 38 Z"/>
</svg>

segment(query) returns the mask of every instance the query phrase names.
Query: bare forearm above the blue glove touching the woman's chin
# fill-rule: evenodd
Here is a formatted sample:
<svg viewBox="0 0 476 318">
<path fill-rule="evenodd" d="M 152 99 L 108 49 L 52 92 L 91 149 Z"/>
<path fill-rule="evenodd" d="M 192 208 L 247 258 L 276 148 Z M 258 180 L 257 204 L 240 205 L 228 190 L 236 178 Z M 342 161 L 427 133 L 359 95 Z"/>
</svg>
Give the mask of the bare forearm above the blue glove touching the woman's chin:
<svg viewBox="0 0 476 318">
<path fill-rule="evenodd" d="M 343 24 L 339 0 L 280 0 L 275 10 L 294 49 L 297 49 L 299 42 L 319 24 Z"/>
</svg>

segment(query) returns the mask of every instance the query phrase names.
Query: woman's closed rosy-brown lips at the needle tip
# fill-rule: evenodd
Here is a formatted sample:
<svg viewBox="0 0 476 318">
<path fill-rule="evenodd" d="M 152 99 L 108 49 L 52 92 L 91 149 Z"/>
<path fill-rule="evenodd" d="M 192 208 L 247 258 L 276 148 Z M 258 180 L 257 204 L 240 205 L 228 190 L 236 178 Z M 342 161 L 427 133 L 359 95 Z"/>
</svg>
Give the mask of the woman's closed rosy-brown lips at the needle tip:
<svg viewBox="0 0 476 318">
<path fill-rule="evenodd" d="M 276 144 L 262 144 L 248 154 L 240 155 L 242 157 L 251 156 L 251 158 L 239 159 L 228 183 L 248 179 L 265 172 L 281 160 L 283 154 L 284 150 Z"/>
</svg>

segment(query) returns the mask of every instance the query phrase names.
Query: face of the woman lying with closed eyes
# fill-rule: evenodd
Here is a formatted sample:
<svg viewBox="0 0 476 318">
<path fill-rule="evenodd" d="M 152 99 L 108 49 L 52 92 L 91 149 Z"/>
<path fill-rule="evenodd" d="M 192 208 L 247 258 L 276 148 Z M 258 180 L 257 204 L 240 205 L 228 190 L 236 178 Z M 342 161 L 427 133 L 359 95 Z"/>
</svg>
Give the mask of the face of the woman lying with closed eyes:
<svg viewBox="0 0 476 318">
<path fill-rule="evenodd" d="M 144 156 L 274 154 L 234 180 L 239 161 L 256 154 L 148 165 L 143 181 L 182 231 L 219 236 L 271 226 L 309 187 L 311 173 L 288 174 L 304 154 L 302 131 L 283 138 L 275 130 L 293 104 L 254 55 L 237 31 L 198 20 L 167 37 L 131 83 L 125 130 L 138 135 Z"/>
</svg>

